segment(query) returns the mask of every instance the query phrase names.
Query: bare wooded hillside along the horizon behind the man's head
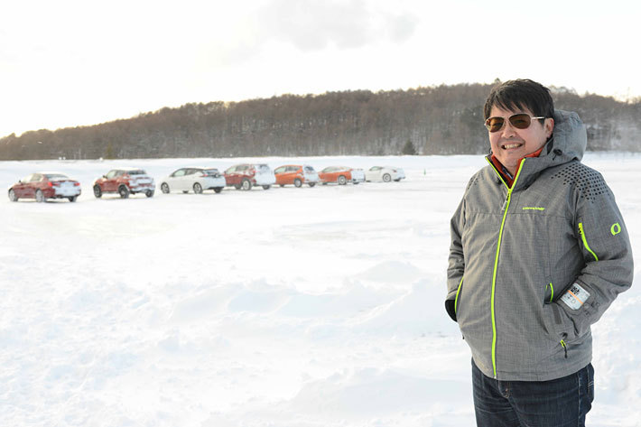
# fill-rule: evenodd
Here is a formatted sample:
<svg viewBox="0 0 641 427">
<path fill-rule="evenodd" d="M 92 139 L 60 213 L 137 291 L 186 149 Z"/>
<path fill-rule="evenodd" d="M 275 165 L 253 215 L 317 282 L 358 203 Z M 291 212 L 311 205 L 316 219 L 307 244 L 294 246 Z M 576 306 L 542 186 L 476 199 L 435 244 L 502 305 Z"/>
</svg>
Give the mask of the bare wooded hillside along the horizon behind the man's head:
<svg viewBox="0 0 641 427">
<path fill-rule="evenodd" d="M 482 107 L 492 85 L 283 95 L 165 107 L 100 125 L 0 138 L 0 160 L 264 155 L 486 153 Z M 641 99 L 553 88 L 577 111 L 588 150 L 641 151 Z M 413 148 L 413 150 L 412 150 Z"/>
</svg>

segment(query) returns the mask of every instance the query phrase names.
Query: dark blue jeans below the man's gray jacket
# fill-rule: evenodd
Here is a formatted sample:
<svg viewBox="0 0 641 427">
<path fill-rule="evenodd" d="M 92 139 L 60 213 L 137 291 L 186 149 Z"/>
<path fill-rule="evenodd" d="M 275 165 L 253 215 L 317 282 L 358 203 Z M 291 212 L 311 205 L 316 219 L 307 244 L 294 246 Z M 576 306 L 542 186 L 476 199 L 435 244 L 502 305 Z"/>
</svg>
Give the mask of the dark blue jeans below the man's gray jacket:
<svg viewBox="0 0 641 427">
<path fill-rule="evenodd" d="M 472 361 L 472 387 L 478 427 L 584 427 L 594 368 L 551 381 L 497 381 Z"/>
</svg>

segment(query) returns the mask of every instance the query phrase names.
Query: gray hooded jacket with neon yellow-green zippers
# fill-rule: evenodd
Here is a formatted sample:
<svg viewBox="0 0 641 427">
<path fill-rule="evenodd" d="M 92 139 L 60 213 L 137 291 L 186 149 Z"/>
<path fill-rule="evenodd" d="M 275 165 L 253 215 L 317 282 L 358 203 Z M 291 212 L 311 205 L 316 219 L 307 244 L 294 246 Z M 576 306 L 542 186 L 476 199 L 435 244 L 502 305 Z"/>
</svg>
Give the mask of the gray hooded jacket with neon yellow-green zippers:
<svg viewBox="0 0 641 427">
<path fill-rule="evenodd" d="M 581 163 L 585 127 L 556 111 L 553 138 L 512 188 L 490 163 L 451 218 L 448 294 L 478 368 L 546 381 L 590 363 L 590 325 L 632 284 L 632 251 L 612 191 Z"/>
</svg>

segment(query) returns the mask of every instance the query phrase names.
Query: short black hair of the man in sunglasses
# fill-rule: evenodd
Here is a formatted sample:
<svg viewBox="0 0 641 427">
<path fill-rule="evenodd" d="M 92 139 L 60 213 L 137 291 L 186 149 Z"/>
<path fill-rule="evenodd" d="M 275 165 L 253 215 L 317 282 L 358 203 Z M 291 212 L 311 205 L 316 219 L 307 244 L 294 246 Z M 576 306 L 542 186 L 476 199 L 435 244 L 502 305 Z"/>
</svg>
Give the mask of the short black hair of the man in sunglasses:
<svg viewBox="0 0 641 427">
<path fill-rule="evenodd" d="M 492 88 L 483 107 L 486 119 L 494 106 L 508 111 L 527 108 L 534 116 L 553 117 L 554 115 L 554 102 L 550 89 L 530 79 L 509 80 Z"/>
</svg>

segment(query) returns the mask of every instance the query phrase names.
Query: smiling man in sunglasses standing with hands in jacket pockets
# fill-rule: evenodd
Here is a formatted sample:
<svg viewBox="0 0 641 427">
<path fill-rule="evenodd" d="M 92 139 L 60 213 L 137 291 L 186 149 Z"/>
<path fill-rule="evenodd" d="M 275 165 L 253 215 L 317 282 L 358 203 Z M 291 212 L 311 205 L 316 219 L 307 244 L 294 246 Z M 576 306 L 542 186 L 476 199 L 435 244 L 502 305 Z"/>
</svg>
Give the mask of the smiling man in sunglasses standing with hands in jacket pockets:
<svg viewBox="0 0 641 427">
<path fill-rule="evenodd" d="M 472 351 L 478 426 L 584 425 L 590 325 L 632 283 L 614 196 L 586 131 L 527 79 L 493 88 L 491 154 L 451 219 L 445 307 Z"/>
</svg>

